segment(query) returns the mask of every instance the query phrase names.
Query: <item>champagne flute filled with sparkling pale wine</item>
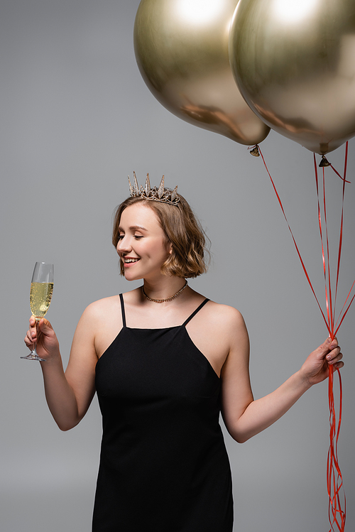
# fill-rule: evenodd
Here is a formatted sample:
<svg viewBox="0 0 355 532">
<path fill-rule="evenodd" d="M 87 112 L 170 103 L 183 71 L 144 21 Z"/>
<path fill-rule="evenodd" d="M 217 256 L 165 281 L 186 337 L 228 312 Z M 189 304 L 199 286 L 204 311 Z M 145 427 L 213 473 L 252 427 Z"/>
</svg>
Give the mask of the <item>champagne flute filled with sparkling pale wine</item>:
<svg viewBox="0 0 355 532">
<path fill-rule="evenodd" d="M 48 262 L 36 262 L 33 270 L 31 291 L 30 291 L 30 306 L 33 317 L 35 318 L 35 325 L 38 328 L 38 322 L 47 314 L 50 305 L 50 300 L 53 294 L 53 273 L 54 264 Z M 20 357 L 26 360 L 41 360 L 45 359 L 38 357 L 35 351 L 35 344 L 31 353 L 27 357 Z"/>
</svg>

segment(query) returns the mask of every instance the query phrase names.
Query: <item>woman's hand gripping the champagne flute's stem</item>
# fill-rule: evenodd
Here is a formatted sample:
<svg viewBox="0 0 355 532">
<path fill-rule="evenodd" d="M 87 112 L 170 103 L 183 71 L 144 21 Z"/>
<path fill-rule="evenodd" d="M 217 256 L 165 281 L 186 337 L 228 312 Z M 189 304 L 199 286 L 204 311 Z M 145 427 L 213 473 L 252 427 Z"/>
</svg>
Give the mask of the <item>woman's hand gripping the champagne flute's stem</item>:
<svg viewBox="0 0 355 532">
<path fill-rule="evenodd" d="M 37 343 L 38 355 L 49 360 L 55 355 L 59 355 L 59 342 L 50 322 L 44 317 L 35 323 L 35 317 L 30 317 L 30 325 L 25 337 L 25 344 L 28 349 L 32 349 L 33 345 Z"/>
</svg>

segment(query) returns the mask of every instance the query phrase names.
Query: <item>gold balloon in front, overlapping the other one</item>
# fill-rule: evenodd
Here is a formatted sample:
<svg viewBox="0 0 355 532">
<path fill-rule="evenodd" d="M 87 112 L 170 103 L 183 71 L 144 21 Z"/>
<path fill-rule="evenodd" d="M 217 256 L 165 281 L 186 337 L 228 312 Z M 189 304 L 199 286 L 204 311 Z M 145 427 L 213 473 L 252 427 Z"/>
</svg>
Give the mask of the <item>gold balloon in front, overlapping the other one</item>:
<svg viewBox="0 0 355 532">
<path fill-rule="evenodd" d="M 229 59 L 278 133 L 322 154 L 355 135 L 354 0 L 240 0 Z"/>
</svg>

